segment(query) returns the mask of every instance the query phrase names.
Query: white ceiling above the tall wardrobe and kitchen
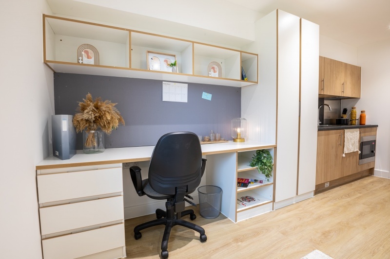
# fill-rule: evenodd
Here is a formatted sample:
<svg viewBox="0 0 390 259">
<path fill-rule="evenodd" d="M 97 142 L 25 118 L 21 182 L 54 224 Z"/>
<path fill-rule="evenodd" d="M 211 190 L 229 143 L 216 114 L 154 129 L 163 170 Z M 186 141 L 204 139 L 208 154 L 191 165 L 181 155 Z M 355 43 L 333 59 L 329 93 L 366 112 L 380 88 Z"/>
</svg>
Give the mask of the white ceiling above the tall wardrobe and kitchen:
<svg viewBox="0 0 390 259">
<path fill-rule="evenodd" d="M 281 9 L 351 46 L 390 39 L 390 0 L 227 0 L 262 14 Z"/>
</svg>

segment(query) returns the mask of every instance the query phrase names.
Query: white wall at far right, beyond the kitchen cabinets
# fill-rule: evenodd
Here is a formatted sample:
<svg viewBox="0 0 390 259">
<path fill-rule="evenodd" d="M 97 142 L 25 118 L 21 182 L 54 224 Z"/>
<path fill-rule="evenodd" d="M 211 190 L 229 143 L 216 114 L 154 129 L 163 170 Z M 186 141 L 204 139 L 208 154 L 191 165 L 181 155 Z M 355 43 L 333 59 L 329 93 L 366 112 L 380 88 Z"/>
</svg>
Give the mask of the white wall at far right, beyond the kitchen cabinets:
<svg viewBox="0 0 390 259">
<path fill-rule="evenodd" d="M 366 110 L 366 124 L 378 124 L 375 175 L 389 177 L 390 167 L 390 40 L 358 48 L 362 88 L 358 114 Z"/>
</svg>

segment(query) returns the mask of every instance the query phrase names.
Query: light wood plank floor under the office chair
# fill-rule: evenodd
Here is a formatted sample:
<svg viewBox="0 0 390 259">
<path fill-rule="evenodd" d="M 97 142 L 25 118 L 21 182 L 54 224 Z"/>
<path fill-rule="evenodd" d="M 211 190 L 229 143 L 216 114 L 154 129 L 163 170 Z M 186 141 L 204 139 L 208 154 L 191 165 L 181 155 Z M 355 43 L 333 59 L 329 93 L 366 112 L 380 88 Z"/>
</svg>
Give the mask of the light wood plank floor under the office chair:
<svg viewBox="0 0 390 259">
<path fill-rule="evenodd" d="M 369 176 L 237 224 L 222 214 L 207 220 L 195 212 L 207 242 L 175 226 L 169 259 L 300 259 L 315 249 L 334 259 L 390 258 L 390 179 Z M 127 258 L 160 258 L 163 226 L 134 239 L 134 226 L 152 219 L 125 221 Z"/>
</svg>

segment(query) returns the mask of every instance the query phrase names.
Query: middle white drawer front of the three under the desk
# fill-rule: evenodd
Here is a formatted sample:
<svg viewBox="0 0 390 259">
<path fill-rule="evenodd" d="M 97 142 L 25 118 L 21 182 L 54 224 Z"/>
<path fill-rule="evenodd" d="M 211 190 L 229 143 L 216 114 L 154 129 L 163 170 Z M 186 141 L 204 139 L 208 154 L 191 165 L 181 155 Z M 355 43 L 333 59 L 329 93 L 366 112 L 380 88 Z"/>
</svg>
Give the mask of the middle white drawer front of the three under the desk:
<svg viewBox="0 0 390 259">
<path fill-rule="evenodd" d="M 39 208 L 41 235 L 123 220 L 123 196 Z"/>
</svg>

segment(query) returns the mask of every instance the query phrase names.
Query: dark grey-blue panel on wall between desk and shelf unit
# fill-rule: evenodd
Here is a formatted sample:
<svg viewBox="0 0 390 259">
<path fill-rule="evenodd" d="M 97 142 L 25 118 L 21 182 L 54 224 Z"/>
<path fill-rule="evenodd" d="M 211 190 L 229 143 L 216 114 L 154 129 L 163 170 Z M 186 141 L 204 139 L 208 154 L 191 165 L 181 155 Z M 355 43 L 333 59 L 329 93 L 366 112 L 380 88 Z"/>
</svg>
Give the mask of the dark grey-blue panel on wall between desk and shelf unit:
<svg viewBox="0 0 390 259">
<path fill-rule="evenodd" d="M 171 82 L 171 81 L 170 81 Z M 211 101 L 202 93 L 212 94 Z M 105 147 L 156 145 L 168 132 L 192 131 L 208 136 L 210 131 L 232 139 L 230 125 L 241 115 L 241 88 L 188 83 L 188 102 L 163 102 L 162 81 L 111 76 L 54 73 L 56 114 L 74 115 L 85 95 L 117 103 L 125 126 L 105 135 Z M 77 149 L 82 149 L 78 133 Z"/>
</svg>

